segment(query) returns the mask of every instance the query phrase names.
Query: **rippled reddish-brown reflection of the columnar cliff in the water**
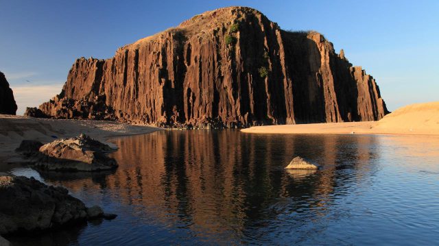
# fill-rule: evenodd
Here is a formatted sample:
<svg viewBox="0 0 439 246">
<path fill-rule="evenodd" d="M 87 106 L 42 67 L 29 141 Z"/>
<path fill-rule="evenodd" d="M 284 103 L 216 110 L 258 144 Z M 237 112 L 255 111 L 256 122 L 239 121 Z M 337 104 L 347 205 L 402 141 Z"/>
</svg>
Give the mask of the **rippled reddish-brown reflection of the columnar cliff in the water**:
<svg viewBox="0 0 439 246">
<path fill-rule="evenodd" d="M 324 216 L 334 193 L 345 190 L 337 187 L 367 179 L 355 172 L 373 169 L 374 141 L 374 136 L 263 136 L 231 130 L 155 132 L 114 140 L 119 151 L 112 156 L 119 168 L 106 184 L 63 184 L 73 190 L 106 186 L 143 217 L 203 236 L 237 236 L 246 233 L 244 227 L 267 226 L 280 214 L 300 213 L 304 207 L 316 208 L 313 219 Z M 323 169 L 305 175 L 285 171 L 294 156 Z"/>
</svg>

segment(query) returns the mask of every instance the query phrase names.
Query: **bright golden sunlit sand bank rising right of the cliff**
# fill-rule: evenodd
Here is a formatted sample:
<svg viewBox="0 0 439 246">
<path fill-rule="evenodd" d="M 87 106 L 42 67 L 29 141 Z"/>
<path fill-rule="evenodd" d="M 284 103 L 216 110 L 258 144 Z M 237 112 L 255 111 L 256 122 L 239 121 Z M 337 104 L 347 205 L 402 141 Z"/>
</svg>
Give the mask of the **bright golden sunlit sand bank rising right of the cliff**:
<svg viewBox="0 0 439 246">
<path fill-rule="evenodd" d="M 395 110 L 380 121 L 268 125 L 241 132 L 258 134 L 419 134 L 439 135 L 439 101 L 416 103 Z"/>
</svg>

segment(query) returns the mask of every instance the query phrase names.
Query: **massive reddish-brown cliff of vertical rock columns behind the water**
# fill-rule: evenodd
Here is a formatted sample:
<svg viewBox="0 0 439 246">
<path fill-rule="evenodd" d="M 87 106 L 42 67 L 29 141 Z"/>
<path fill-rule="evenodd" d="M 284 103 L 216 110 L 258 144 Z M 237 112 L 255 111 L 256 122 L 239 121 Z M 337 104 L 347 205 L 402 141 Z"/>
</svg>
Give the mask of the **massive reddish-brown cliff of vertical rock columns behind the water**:
<svg viewBox="0 0 439 246">
<path fill-rule="evenodd" d="M 286 32 L 230 7 L 75 61 L 47 116 L 178 127 L 372 121 L 388 111 L 375 79 L 317 32 Z"/>
</svg>

